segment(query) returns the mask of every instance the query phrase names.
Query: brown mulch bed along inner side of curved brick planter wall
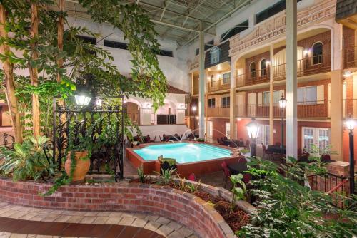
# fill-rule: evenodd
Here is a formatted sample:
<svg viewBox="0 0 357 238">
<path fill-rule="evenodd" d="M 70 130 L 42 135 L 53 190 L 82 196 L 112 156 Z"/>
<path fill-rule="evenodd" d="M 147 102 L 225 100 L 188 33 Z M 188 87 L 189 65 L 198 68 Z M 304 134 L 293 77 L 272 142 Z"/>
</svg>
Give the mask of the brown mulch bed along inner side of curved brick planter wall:
<svg viewBox="0 0 357 238">
<path fill-rule="evenodd" d="M 139 179 L 131 180 L 130 182 L 140 182 Z M 146 180 L 146 183 L 155 184 L 156 180 Z M 172 187 L 177 190 L 180 190 L 180 187 L 172 182 L 170 185 L 166 185 L 167 187 Z M 190 192 L 185 190 L 184 192 Z M 191 194 L 195 195 L 196 197 L 200 197 L 202 200 L 206 202 L 210 202 L 214 209 L 221 214 L 223 219 L 227 222 L 229 227 L 236 232 L 241 229 L 241 227 L 245 226 L 249 223 L 249 215 L 246 212 L 241 211 L 238 207 L 235 207 L 233 212 L 231 212 L 231 202 L 225 200 L 223 197 L 211 195 L 208 192 L 204 192 L 203 190 L 198 190 L 194 192 L 190 192 Z"/>
</svg>

